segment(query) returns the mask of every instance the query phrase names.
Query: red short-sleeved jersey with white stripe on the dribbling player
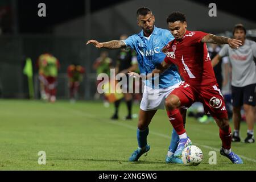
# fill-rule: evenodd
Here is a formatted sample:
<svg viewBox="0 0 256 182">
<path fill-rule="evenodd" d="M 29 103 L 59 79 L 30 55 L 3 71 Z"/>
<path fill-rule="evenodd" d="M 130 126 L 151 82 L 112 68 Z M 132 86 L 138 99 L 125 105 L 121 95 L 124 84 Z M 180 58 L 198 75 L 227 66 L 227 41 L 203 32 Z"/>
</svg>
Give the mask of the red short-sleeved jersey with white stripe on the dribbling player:
<svg viewBox="0 0 256 182">
<path fill-rule="evenodd" d="M 167 45 L 164 61 L 177 65 L 180 75 L 189 85 L 216 84 L 207 45 L 201 42 L 205 35 L 208 34 L 201 31 L 186 31 L 181 42 L 174 39 Z"/>
</svg>

